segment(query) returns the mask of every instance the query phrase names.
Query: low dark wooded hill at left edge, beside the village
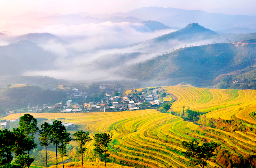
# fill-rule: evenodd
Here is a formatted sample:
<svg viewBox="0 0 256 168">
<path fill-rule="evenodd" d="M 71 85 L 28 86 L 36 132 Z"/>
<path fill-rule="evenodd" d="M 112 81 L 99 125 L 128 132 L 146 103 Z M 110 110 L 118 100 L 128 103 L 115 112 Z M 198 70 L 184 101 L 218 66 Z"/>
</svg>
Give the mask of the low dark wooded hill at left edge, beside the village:
<svg viewBox="0 0 256 168">
<path fill-rule="evenodd" d="M 22 87 L 4 87 L 0 89 L 0 113 L 30 105 L 53 104 L 66 100 L 62 91 L 52 91 L 41 87 L 25 85 Z"/>
</svg>

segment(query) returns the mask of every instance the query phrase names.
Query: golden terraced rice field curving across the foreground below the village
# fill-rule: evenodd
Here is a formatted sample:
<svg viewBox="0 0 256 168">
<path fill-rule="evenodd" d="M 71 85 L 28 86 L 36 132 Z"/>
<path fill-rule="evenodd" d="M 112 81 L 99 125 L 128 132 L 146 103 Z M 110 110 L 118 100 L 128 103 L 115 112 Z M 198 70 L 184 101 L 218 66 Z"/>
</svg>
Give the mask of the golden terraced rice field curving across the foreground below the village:
<svg viewBox="0 0 256 168">
<path fill-rule="evenodd" d="M 256 134 L 201 128 L 191 122 L 183 121 L 178 116 L 159 113 L 157 110 L 86 114 L 31 113 L 31 115 L 50 120 L 63 117 L 65 118 L 63 121 L 75 123 L 79 130 L 89 131 L 90 135 L 96 132 L 109 132 L 113 139 L 110 145 L 111 157 L 118 161 L 134 163 L 139 167 L 193 167 L 181 153 L 185 150 L 181 141 L 189 141 L 192 138 L 221 143 L 231 152 L 256 154 Z M 12 114 L 3 119 L 15 119 L 19 116 L 20 114 Z M 70 133 L 74 134 L 74 132 Z M 86 160 L 96 158 L 93 143 L 93 141 L 87 143 Z M 77 146 L 75 142 L 71 144 Z M 210 164 L 215 165 L 215 163 Z"/>
</svg>

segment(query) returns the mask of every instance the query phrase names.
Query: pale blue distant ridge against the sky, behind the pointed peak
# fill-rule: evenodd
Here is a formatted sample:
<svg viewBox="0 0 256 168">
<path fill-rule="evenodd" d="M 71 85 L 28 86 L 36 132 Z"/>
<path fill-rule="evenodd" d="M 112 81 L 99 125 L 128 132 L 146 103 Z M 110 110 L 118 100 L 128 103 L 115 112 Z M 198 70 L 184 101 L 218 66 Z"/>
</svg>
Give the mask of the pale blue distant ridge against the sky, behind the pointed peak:
<svg viewBox="0 0 256 168">
<path fill-rule="evenodd" d="M 256 29 L 256 16 L 228 15 L 222 13 L 207 13 L 201 10 L 185 10 L 164 7 L 142 7 L 128 13 L 112 13 L 90 15 L 98 18 L 111 16 L 132 16 L 142 20 L 154 20 L 169 27 L 185 27 L 189 23 L 199 23 L 214 31 L 230 29 L 234 27 L 247 27 Z"/>
</svg>

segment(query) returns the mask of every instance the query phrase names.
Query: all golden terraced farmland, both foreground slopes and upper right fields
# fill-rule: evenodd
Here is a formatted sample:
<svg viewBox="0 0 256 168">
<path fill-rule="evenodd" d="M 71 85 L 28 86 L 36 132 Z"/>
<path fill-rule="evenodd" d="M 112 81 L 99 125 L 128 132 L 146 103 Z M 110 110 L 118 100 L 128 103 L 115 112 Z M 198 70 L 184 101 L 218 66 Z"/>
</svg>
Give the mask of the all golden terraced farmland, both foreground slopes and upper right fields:
<svg viewBox="0 0 256 168">
<path fill-rule="evenodd" d="M 116 163 L 134 167 L 190 168 L 193 167 L 182 154 L 186 149 L 182 141 L 193 138 L 216 142 L 233 155 L 256 154 L 256 121 L 254 112 L 256 90 L 222 90 L 192 87 L 163 87 L 167 96 L 176 101 L 172 110 L 182 111 L 183 106 L 199 110 L 208 119 L 241 119 L 243 130 L 226 131 L 214 126 L 196 125 L 184 121 L 180 116 L 160 113 L 157 110 L 96 113 L 31 113 L 35 118 L 61 121 L 77 125 L 78 130 L 89 131 L 90 135 L 109 132 L 112 141 L 109 147 L 110 159 Z M 22 115 L 22 114 L 21 114 Z M 16 119 L 20 114 L 11 114 L 2 119 Z M 70 131 L 74 134 L 76 130 Z M 72 141 L 72 147 L 77 143 Z M 93 141 L 87 143 L 86 161 L 95 161 Z M 42 150 L 43 152 L 43 150 Z M 74 160 L 76 148 L 70 151 Z M 43 159 L 42 159 L 43 160 Z M 35 161 L 36 162 L 36 161 Z M 38 162 L 37 162 L 38 163 Z M 219 167 L 214 160 L 210 166 Z M 40 166 L 40 165 L 39 165 Z M 44 163 L 41 163 L 44 166 Z M 196 167 L 196 166 L 195 166 Z"/>
</svg>

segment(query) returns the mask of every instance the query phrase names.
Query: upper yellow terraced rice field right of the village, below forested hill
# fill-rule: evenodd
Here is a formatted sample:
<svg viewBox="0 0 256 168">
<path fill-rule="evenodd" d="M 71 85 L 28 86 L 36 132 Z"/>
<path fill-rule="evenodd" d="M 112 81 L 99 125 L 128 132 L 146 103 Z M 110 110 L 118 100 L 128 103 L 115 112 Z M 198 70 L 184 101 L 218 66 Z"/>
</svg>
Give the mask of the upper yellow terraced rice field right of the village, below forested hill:
<svg viewBox="0 0 256 168">
<path fill-rule="evenodd" d="M 250 113 L 256 110 L 256 90 L 205 89 L 195 87 L 163 87 L 173 94 L 175 101 L 171 108 L 182 111 L 190 107 L 199 110 L 208 118 L 232 120 L 232 116 L 256 124 Z"/>
</svg>

